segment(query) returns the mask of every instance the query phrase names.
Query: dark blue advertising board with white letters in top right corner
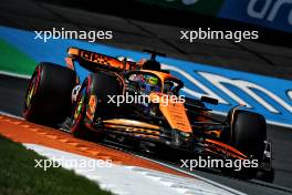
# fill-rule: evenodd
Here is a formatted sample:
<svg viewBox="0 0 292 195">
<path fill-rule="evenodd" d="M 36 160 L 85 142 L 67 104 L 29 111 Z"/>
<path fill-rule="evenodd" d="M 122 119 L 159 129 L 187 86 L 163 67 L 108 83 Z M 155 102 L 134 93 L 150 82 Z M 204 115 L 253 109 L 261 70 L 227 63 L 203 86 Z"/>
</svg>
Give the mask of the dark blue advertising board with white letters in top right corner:
<svg viewBox="0 0 292 195">
<path fill-rule="evenodd" d="M 226 0 L 218 17 L 292 32 L 292 0 Z"/>
</svg>

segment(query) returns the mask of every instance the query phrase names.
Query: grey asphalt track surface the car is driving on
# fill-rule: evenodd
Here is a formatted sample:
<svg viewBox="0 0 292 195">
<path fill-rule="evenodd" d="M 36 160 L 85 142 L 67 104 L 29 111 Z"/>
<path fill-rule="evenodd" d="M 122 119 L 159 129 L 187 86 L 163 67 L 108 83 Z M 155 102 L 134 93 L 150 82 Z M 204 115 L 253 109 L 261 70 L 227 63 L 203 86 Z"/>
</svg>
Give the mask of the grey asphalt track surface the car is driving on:
<svg viewBox="0 0 292 195">
<path fill-rule="evenodd" d="M 21 116 L 23 95 L 28 85 L 28 80 L 20 78 L 12 78 L 8 75 L 0 75 L 0 111 Z M 268 135 L 273 142 L 274 168 L 275 168 L 275 185 L 270 185 L 259 181 L 241 181 L 228 176 L 219 175 L 212 171 L 196 170 L 195 173 L 199 176 L 216 181 L 220 184 L 227 185 L 247 194 L 292 194 L 292 170 L 291 170 L 291 146 L 292 132 L 290 129 L 279 126 L 268 126 Z M 111 145 L 107 145 L 111 146 Z M 132 152 L 125 150 L 125 152 Z M 145 156 L 143 153 L 136 155 Z M 147 156 L 146 156 L 147 157 Z M 159 163 L 179 168 L 178 165 L 169 162 L 164 162 L 159 158 L 154 158 Z M 187 170 L 184 170 L 187 171 Z M 283 187 L 281 187 L 283 186 Z"/>
</svg>

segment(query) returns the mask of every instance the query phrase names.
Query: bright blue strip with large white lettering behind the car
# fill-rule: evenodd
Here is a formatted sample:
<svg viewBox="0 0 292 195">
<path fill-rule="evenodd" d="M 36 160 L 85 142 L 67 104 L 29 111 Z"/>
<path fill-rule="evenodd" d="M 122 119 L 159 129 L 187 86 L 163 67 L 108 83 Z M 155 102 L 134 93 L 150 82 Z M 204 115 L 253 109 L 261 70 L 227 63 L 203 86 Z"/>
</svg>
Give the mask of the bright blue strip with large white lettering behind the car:
<svg viewBox="0 0 292 195">
<path fill-rule="evenodd" d="M 6 40 L 36 62 L 49 61 L 64 64 L 69 47 L 76 47 L 108 55 L 124 55 L 134 60 L 148 54 L 88 43 L 77 40 L 35 40 L 33 32 L 0 27 L 0 39 Z M 0 51 L 1 52 L 1 51 Z M 182 93 L 190 98 L 208 95 L 219 100 L 219 105 L 208 105 L 217 113 L 226 114 L 232 106 L 244 104 L 246 109 L 259 112 L 269 123 L 292 126 L 292 81 L 216 68 L 173 58 L 161 58 L 164 69 L 184 81 Z M 35 64 L 36 65 L 36 64 Z M 0 66 L 1 70 L 1 66 Z M 77 68 L 81 78 L 87 72 Z"/>
</svg>

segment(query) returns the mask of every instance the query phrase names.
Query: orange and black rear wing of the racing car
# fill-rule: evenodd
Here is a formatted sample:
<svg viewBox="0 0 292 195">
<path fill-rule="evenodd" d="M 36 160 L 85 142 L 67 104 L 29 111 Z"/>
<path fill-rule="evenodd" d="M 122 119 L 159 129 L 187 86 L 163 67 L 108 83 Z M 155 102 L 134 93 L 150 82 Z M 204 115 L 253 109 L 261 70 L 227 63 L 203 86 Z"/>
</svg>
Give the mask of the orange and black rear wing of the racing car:
<svg viewBox="0 0 292 195">
<path fill-rule="evenodd" d="M 114 57 L 86 51 L 79 48 L 69 48 L 66 64 L 70 69 L 74 70 L 74 61 L 90 71 L 94 70 L 108 70 L 108 71 L 123 71 L 136 70 L 138 65 L 135 62 L 119 61 Z"/>
</svg>

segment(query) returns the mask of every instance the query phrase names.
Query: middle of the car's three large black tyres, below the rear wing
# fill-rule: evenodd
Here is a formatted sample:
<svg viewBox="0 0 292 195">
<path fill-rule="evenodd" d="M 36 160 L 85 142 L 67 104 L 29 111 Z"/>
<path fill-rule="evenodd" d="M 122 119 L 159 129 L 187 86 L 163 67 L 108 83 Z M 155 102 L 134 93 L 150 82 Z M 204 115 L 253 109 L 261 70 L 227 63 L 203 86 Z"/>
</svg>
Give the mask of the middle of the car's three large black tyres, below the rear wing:
<svg viewBox="0 0 292 195">
<path fill-rule="evenodd" d="M 98 72 L 90 74 L 83 82 L 73 112 L 71 133 L 75 137 L 91 137 L 91 125 L 98 117 L 106 119 L 116 114 L 116 104 L 108 104 L 107 95 L 123 94 L 123 84 L 118 76 Z M 95 135 L 95 136 L 102 136 Z M 97 138 L 98 140 L 98 138 Z"/>
</svg>

